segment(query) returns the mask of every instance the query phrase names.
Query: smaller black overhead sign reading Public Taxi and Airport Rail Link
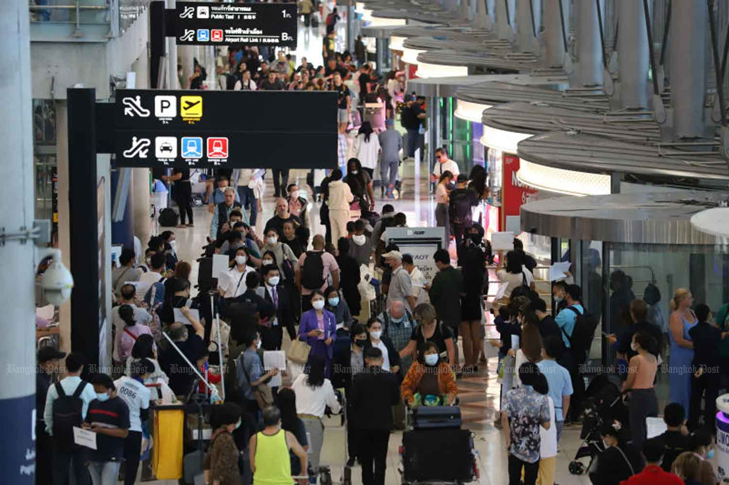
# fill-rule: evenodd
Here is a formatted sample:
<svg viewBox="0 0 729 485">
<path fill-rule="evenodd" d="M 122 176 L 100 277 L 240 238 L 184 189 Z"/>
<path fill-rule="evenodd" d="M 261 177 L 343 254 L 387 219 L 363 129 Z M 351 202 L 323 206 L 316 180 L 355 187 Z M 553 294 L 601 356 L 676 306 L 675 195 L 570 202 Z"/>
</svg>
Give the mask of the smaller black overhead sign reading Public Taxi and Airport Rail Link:
<svg viewBox="0 0 729 485">
<path fill-rule="evenodd" d="M 178 45 L 274 45 L 296 47 L 296 4 L 222 4 L 178 1 L 174 32 Z"/>
</svg>

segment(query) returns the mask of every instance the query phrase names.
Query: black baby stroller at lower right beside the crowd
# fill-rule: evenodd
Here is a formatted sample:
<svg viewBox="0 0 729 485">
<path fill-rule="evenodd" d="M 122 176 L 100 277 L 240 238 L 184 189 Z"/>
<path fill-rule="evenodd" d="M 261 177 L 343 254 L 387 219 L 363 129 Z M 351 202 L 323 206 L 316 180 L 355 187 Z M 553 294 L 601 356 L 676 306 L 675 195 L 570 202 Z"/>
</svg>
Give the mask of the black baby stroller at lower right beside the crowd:
<svg viewBox="0 0 729 485">
<path fill-rule="evenodd" d="M 595 457 L 604 452 L 604 445 L 600 435 L 601 428 L 617 419 L 628 422 L 628 409 L 623 404 L 623 393 L 607 377 L 599 376 L 585 391 L 585 414 L 582 420 L 580 439 L 582 443 L 569 463 L 569 473 L 582 475 L 590 468 Z M 590 463 L 585 467 L 580 458 L 590 457 Z"/>
</svg>

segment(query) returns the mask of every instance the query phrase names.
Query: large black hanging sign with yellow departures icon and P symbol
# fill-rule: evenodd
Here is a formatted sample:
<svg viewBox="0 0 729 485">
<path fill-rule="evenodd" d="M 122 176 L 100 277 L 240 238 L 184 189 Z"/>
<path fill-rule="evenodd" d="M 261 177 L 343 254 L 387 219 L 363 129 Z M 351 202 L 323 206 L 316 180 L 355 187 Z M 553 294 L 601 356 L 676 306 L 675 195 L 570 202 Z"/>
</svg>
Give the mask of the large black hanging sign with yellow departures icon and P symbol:
<svg viewBox="0 0 729 485">
<path fill-rule="evenodd" d="M 336 104 L 335 92 L 117 90 L 98 105 L 113 120 L 99 138 L 120 167 L 333 168 Z"/>
</svg>

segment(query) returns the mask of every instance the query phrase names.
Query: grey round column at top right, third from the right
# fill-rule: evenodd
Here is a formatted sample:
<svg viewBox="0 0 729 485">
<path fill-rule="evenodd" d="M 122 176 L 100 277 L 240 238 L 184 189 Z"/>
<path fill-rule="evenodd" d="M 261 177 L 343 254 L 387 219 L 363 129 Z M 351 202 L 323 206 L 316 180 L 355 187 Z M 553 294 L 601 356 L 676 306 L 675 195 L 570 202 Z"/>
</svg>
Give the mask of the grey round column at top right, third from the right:
<svg viewBox="0 0 729 485">
<path fill-rule="evenodd" d="M 636 2 L 637 3 L 637 2 Z M 592 0 L 575 2 L 577 8 L 577 84 L 599 86 L 602 84 L 602 47 L 598 25 L 597 7 Z M 604 12 L 605 2 L 600 0 Z M 566 19 L 565 19 L 566 20 Z"/>
</svg>

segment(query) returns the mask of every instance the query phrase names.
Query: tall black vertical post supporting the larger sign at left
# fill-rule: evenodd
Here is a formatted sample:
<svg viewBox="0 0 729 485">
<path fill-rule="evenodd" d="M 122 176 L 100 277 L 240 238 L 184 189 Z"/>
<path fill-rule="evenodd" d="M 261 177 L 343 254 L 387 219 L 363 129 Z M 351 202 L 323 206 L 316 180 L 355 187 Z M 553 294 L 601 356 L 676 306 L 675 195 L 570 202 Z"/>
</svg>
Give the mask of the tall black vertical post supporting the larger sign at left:
<svg viewBox="0 0 729 485">
<path fill-rule="evenodd" d="M 68 90 L 69 215 L 71 228 L 71 352 L 99 362 L 98 207 L 96 173 L 96 90 Z"/>
</svg>

